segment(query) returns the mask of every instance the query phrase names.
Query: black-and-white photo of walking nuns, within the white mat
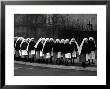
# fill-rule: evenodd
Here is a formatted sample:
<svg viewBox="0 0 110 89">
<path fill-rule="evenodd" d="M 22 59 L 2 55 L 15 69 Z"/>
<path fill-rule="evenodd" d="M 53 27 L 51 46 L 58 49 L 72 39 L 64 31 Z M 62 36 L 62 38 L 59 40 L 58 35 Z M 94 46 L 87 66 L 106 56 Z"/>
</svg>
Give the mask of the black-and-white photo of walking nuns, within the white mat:
<svg viewBox="0 0 110 89">
<path fill-rule="evenodd" d="M 14 76 L 97 76 L 97 14 L 14 14 Z"/>
</svg>

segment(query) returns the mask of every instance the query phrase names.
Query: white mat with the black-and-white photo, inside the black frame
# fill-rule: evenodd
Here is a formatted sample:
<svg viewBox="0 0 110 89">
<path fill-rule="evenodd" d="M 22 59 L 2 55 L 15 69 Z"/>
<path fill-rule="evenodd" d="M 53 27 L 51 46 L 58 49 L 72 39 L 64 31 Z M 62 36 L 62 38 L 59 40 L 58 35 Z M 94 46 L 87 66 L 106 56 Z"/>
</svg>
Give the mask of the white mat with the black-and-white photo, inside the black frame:
<svg viewBox="0 0 110 89">
<path fill-rule="evenodd" d="M 5 8 L 6 85 L 105 84 L 106 5 L 45 4 Z"/>
</svg>

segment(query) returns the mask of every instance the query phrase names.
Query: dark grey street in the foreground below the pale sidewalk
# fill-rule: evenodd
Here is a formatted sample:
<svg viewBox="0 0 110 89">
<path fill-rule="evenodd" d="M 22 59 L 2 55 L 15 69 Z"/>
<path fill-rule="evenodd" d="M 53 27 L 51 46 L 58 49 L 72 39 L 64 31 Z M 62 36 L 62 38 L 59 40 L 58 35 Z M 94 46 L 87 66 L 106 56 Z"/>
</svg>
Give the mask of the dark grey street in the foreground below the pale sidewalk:
<svg viewBox="0 0 110 89">
<path fill-rule="evenodd" d="M 97 71 L 59 69 L 25 64 L 14 64 L 15 76 L 97 76 Z"/>
</svg>

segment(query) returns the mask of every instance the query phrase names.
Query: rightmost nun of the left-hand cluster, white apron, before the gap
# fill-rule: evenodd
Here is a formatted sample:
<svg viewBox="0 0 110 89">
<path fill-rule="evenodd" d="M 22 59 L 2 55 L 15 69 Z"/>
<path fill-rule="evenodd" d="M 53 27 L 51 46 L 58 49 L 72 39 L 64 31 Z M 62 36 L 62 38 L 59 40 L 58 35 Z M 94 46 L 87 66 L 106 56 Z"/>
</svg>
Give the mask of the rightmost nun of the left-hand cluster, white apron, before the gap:
<svg viewBox="0 0 110 89">
<path fill-rule="evenodd" d="M 34 62 L 34 58 L 35 58 L 35 41 L 34 38 L 31 38 L 30 41 L 27 40 L 27 42 L 29 42 L 29 46 L 28 46 L 28 54 L 29 54 L 29 59 L 28 61 L 30 62 Z"/>
</svg>

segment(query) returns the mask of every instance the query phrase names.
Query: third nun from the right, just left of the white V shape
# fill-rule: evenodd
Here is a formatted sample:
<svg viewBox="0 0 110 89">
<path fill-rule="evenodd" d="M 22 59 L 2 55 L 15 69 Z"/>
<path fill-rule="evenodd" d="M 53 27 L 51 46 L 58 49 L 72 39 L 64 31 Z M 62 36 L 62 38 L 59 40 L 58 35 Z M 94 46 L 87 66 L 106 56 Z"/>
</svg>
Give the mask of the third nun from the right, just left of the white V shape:
<svg viewBox="0 0 110 89">
<path fill-rule="evenodd" d="M 71 45 L 71 64 L 74 64 L 74 59 L 77 59 L 77 53 L 78 53 L 78 44 L 74 38 L 70 41 Z"/>
</svg>

